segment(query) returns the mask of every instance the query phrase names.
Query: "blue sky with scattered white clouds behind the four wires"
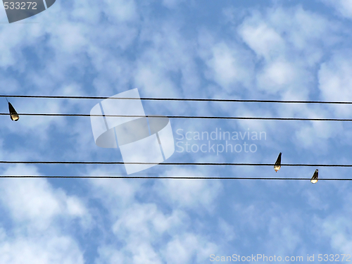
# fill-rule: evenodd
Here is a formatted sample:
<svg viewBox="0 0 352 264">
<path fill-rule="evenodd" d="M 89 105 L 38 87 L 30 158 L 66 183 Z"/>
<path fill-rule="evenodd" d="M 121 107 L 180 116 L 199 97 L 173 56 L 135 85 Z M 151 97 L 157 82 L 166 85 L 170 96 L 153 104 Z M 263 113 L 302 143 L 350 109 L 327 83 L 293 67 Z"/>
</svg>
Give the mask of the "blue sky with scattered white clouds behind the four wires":
<svg viewBox="0 0 352 264">
<path fill-rule="evenodd" d="M 11 24 L 3 8 L 1 94 L 113 96 L 138 88 L 142 97 L 351 101 L 351 19 L 347 0 L 57 0 Z M 10 101 L 18 113 L 89 113 L 99 103 Z M 143 106 L 147 115 L 352 113 L 351 106 L 318 104 Z M 118 149 L 96 146 L 87 117 L 13 122 L 3 115 L 1 124 L 1 161 L 122 161 Z M 275 163 L 282 152 L 282 163 L 351 163 L 348 122 L 172 119 L 171 126 L 181 145 L 225 145 L 180 139 L 217 129 L 265 132 L 266 138 L 228 142 L 255 144 L 253 152 L 176 147 L 168 162 Z M 318 169 L 322 178 L 351 177 L 348 168 Z M 138 175 L 311 177 L 314 170 L 158 165 Z M 0 173 L 126 175 L 123 165 L 3 164 Z M 187 264 L 224 263 L 210 255 L 306 260 L 314 254 L 320 263 L 318 254 L 352 254 L 350 189 L 348 182 L 329 181 L 1 179 L 0 262 Z"/>
</svg>

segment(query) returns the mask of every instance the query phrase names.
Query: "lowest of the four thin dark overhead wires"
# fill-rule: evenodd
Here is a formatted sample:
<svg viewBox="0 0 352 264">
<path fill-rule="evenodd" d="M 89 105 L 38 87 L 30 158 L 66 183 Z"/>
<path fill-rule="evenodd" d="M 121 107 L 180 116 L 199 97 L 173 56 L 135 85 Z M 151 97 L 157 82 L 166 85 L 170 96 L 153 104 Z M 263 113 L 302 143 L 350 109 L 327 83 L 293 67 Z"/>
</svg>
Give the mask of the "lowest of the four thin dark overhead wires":
<svg viewBox="0 0 352 264">
<path fill-rule="evenodd" d="M 173 177 L 173 176 L 42 176 L 42 175 L 1 175 L 0 178 L 87 178 L 87 179 L 175 179 L 175 180 L 311 180 L 310 178 L 270 178 L 270 177 Z M 351 178 L 319 179 L 327 181 L 351 181 Z"/>
</svg>

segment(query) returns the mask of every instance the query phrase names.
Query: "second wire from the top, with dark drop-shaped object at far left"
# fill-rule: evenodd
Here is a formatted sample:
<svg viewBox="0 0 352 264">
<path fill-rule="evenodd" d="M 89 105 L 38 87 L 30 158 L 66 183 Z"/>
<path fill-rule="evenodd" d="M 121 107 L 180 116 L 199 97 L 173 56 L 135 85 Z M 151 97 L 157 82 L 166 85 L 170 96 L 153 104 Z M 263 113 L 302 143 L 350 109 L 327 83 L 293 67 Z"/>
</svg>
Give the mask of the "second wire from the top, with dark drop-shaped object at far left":
<svg viewBox="0 0 352 264">
<path fill-rule="evenodd" d="M 9 113 L 0 113 L 0 115 L 10 115 Z M 18 113 L 18 115 L 36 115 L 36 116 L 105 116 L 111 118 L 184 118 L 184 119 L 227 119 L 227 120 L 296 120 L 296 121 L 340 121 L 351 122 L 352 119 L 339 118 L 254 118 L 254 117 L 232 117 L 232 116 L 193 116 L 193 115 L 89 115 L 83 113 Z"/>
</svg>

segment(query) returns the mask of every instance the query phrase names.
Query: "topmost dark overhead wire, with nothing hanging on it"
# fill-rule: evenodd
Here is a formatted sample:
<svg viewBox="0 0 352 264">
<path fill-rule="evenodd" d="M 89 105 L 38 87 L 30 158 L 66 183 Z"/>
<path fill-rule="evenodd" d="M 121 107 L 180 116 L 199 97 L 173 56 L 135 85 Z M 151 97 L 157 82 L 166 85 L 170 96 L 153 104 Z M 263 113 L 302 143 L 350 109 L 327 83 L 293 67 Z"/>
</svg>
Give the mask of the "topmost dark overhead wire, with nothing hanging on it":
<svg viewBox="0 0 352 264">
<path fill-rule="evenodd" d="M 117 99 L 117 100 L 149 100 L 149 101 L 213 101 L 239 103 L 329 103 L 352 104 L 348 101 L 287 101 L 287 100 L 252 100 L 252 99 L 199 99 L 199 98 L 155 98 L 155 97 L 109 97 L 109 96 L 47 96 L 47 95 L 0 95 L 0 97 L 46 98 L 46 99 Z"/>
</svg>

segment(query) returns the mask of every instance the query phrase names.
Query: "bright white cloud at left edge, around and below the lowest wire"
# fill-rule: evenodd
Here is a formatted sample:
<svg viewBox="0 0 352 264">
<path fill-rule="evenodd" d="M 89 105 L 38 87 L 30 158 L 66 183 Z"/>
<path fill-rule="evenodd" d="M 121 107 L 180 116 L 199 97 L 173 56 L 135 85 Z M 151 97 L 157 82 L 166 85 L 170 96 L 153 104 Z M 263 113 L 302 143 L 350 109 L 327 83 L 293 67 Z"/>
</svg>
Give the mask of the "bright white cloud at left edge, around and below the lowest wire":
<svg viewBox="0 0 352 264">
<path fill-rule="evenodd" d="M 38 172 L 33 166 L 25 165 L 17 165 L 4 172 L 4 175 L 23 174 L 38 175 Z M 87 218 L 87 221 L 90 218 L 77 197 L 54 189 L 44 179 L 6 179 L 0 191 L 0 201 L 8 208 L 11 218 L 30 230 L 46 230 L 58 218 Z"/>
</svg>

